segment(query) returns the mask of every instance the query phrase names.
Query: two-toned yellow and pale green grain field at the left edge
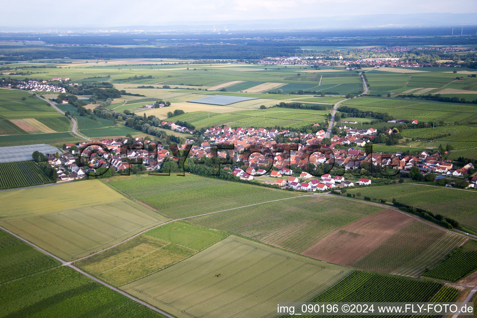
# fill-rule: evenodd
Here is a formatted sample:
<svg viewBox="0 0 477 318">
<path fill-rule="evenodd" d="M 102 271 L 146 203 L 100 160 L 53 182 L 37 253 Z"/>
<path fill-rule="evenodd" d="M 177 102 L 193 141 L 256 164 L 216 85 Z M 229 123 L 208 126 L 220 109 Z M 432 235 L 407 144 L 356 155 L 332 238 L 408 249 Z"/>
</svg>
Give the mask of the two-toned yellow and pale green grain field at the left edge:
<svg viewBox="0 0 477 318">
<path fill-rule="evenodd" d="M 0 225 L 64 260 L 118 243 L 166 218 L 99 180 L 0 193 Z"/>
</svg>

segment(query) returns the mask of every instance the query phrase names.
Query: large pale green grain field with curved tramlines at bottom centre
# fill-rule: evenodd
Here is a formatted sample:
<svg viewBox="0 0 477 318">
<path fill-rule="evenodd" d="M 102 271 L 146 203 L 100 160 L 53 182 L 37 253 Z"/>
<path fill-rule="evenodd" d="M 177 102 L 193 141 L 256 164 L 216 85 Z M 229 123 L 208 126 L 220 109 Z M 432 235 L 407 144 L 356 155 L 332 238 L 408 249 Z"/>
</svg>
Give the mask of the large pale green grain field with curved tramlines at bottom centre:
<svg viewBox="0 0 477 318">
<path fill-rule="evenodd" d="M 121 289 L 178 317 L 275 317 L 277 302 L 307 301 L 350 272 L 228 236 Z"/>
</svg>

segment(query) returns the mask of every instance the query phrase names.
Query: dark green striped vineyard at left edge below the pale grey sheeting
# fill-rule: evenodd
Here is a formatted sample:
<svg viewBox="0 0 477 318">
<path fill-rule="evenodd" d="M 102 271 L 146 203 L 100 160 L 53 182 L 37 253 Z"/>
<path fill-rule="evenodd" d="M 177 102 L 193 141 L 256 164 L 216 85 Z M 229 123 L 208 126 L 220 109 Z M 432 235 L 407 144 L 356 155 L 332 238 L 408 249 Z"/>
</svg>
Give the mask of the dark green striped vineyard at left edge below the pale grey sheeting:
<svg viewBox="0 0 477 318">
<path fill-rule="evenodd" d="M 50 183 L 52 180 L 33 161 L 0 163 L 0 188 Z"/>
</svg>

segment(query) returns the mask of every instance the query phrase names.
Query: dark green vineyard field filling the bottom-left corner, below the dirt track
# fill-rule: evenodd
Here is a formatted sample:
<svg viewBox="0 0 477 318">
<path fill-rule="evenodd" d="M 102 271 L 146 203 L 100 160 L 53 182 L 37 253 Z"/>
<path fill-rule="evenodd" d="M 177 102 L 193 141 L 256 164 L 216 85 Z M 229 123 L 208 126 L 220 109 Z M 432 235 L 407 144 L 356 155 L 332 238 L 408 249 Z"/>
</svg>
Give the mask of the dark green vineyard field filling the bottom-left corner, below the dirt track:
<svg viewBox="0 0 477 318">
<path fill-rule="evenodd" d="M 0 299 L 0 317 L 164 317 L 69 267 L 2 284 Z"/>
</svg>

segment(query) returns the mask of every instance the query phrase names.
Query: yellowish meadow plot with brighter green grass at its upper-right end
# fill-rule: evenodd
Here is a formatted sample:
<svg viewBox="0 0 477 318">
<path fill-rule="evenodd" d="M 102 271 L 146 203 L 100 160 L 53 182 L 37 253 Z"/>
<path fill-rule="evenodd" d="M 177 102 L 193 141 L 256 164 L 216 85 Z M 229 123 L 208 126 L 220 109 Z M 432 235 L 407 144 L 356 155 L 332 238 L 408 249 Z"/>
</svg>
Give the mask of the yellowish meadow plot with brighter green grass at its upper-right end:
<svg viewBox="0 0 477 318">
<path fill-rule="evenodd" d="M 121 286 L 180 262 L 217 243 L 227 234 L 184 222 L 156 227 L 75 265 Z"/>
</svg>

